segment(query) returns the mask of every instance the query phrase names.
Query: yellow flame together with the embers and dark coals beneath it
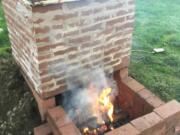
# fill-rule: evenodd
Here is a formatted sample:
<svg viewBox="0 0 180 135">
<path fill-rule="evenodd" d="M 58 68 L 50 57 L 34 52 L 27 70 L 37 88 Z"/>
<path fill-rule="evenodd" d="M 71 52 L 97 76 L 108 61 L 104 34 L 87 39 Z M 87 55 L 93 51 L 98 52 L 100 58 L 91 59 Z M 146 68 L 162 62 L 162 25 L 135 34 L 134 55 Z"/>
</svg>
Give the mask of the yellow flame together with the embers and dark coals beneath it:
<svg viewBox="0 0 180 135">
<path fill-rule="evenodd" d="M 122 112 L 119 106 L 113 105 L 113 99 L 115 99 L 113 96 L 111 88 L 105 88 L 100 92 L 93 105 L 94 118 L 79 126 L 83 135 L 103 135 L 128 122 L 127 113 Z M 92 121 L 96 123 L 96 127 L 89 126 L 91 125 L 89 123 L 92 123 Z"/>
</svg>

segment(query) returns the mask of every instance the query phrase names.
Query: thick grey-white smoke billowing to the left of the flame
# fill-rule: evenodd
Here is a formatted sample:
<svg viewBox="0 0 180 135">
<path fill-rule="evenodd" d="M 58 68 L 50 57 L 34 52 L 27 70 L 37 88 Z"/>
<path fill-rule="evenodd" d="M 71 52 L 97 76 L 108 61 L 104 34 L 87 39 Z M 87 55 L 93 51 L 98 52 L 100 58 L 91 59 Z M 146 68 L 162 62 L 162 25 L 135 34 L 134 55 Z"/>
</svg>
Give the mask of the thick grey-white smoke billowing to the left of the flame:
<svg viewBox="0 0 180 135">
<path fill-rule="evenodd" d="M 62 94 L 60 104 L 79 127 L 97 127 L 97 121 L 100 123 L 103 118 L 96 108 L 96 102 L 105 88 L 111 87 L 111 94 L 116 95 L 113 77 L 107 76 L 100 67 L 67 70 L 66 75 L 69 91 Z"/>
</svg>

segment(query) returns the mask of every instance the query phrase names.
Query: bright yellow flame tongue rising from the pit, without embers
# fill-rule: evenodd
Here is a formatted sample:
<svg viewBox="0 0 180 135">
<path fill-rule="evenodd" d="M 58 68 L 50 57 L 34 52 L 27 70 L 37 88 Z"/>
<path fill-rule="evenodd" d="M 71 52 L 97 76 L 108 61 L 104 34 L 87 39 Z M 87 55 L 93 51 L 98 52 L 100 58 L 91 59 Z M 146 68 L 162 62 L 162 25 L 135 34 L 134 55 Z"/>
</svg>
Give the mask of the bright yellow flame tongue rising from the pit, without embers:
<svg viewBox="0 0 180 135">
<path fill-rule="evenodd" d="M 103 108 L 101 111 L 103 111 L 103 112 L 107 111 L 107 115 L 108 115 L 110 121 L 112 122 L 113 121 L 114 106 L 110 100 L 111 92 L 112 92 L 111 88 L 103 89 L 102 92 L 100 93 L 98 100 L 99 100 L 100 106 Z"/>
</svg>

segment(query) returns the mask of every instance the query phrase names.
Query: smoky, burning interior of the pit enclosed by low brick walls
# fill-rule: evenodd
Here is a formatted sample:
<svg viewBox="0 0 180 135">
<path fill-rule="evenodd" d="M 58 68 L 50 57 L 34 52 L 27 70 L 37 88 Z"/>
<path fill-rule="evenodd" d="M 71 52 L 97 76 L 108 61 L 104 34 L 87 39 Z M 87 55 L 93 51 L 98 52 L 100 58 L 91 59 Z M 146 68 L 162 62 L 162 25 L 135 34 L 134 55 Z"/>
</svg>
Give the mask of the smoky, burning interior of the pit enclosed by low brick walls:
<svg viewBox="0 0 180 135">
<path fill-rule="evenodd" d="M 71 77 L 67 79 L 71 89 L 57 95 L 56 103 L 82 135 L 104 135 L 152 111 L 128 85 L 101 70 Z"/>
</svg>

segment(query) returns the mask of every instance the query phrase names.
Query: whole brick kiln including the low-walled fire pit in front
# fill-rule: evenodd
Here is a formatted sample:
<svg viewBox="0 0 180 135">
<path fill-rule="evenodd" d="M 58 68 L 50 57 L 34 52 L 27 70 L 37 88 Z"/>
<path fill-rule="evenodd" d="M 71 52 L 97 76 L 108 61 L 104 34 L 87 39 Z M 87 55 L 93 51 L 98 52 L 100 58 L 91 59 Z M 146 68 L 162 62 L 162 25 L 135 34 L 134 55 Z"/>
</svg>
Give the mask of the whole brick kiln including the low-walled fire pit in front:
<svg viewBox="0 0 180 135">
<path fill-rule="evenodd" d="M 45 123 L 35 135 L 180 134 L 180 104 L 161 101 L 128 76 L 134 0 L 4 0 L 3 5 L 13 56 Z M 65 106 L 64 95 L 71 95 Z M 66 110 L 74 95 L 78 101 L 85 97 L 83 103 L 94 100 L 78 117 L 94 108 L 95 124 L 99 113 L 103 118 L 100 125 L 81 128 L 74 122 Z"/>
</svg>

